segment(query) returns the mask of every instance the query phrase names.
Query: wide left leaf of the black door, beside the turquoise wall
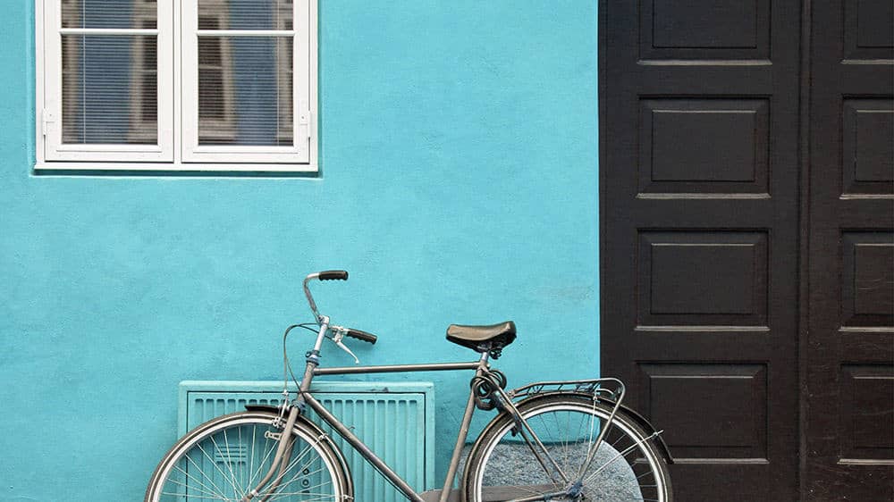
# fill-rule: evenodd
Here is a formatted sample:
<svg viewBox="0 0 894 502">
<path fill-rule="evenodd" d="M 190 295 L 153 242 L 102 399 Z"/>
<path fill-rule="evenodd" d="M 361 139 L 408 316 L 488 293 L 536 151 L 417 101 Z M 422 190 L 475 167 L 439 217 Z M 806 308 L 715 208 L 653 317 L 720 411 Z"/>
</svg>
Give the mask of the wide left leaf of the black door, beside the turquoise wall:
<svg viewBox="0 0 894 502">
<path fill-rule="evenodd" d="M 603 373 L 679 500 L 790 501 L 799 11 L 717 4 L 601 4 Z"/>
</svg>

